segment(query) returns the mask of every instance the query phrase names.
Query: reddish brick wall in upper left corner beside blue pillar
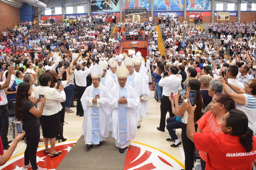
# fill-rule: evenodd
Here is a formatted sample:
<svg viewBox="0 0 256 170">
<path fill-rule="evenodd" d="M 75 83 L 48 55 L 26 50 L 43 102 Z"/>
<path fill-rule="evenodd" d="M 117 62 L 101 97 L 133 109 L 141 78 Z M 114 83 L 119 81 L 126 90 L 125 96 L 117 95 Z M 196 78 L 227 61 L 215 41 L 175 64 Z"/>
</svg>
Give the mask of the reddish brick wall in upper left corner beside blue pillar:
<svg viewBox="0 0 256 170">
<path fill-rule="evenodd" d="M 20 13 L 19 8 L 15 8 L 4 3 L 0 3 L 0 13 L 0 32 L 2 35 L 3 29 L 13 27 L 14 24 L 18 25 L 18 22 L 20 21 Z"/>
</svg>

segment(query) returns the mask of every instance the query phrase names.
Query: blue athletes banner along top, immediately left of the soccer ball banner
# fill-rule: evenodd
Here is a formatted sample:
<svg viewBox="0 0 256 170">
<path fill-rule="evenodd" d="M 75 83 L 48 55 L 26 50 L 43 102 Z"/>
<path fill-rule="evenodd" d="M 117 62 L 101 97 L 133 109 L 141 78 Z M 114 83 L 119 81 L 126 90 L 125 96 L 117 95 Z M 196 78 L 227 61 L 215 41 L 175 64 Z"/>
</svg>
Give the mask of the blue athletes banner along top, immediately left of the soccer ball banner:
<svg viewBox="0 0 256 170">
<path fill-rule="evenodd" d="M 183 0 L 154 0 L 154 10 L 184 10 Z"/>
</svg>

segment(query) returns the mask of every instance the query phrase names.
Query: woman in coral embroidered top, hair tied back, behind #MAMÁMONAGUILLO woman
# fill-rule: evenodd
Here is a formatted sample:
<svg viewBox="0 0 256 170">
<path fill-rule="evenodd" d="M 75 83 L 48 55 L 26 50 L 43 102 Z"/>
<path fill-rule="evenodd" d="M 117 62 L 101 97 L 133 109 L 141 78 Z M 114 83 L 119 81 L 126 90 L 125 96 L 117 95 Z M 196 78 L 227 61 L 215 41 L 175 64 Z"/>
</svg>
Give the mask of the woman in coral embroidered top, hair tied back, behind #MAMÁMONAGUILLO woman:
<svg viewBox="0 0 256 170">
<path fill-rule="evenodd" d="M 201 76 L 202 78 L 202 76 Z M 200 80 L 201 80 L 200 78 Z M 231 109 L 235 109 L 235 102 L 232 98 L 222 93 L 215 93 L 210 104 L 211 110 L 206 112 L 196 123 L 198 125 L 197 132 L 200 133 L 218 133 L 221 131 L 220 124 L 223 116 Z M 205 170 L 207 153 L 199 151 L 201 169 Z"/>
</svg>

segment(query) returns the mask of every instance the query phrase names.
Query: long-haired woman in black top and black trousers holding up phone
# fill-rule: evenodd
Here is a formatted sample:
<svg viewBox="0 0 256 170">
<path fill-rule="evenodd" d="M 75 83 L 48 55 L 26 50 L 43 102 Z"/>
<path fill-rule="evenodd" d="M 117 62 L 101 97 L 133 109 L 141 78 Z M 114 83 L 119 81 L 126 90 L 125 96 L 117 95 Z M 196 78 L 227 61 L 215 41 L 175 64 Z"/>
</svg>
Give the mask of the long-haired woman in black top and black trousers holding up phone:
<svg viewBox="0 0 256 170">
<path fill-rule="evenodd" d="M 19 84 L 16 94 L 15 117 L 23 122 L 23 130 L 26 132 L 27 147 L 24 152 L 24 166 L 22 169 L 32 167 L 33 170 L 47 170 L 36 164 L 36 151 L 40 140 L 39 117 L 43 113 L 44 104 L 46 101 L 45 95 L 43 98 L 37 98 L 34 103 L 29 100 L 32 93 L 31 85 L 28 82 Z M 36 105 L 41 102 L 41 107 L 37 110 Z"/>
</svg>

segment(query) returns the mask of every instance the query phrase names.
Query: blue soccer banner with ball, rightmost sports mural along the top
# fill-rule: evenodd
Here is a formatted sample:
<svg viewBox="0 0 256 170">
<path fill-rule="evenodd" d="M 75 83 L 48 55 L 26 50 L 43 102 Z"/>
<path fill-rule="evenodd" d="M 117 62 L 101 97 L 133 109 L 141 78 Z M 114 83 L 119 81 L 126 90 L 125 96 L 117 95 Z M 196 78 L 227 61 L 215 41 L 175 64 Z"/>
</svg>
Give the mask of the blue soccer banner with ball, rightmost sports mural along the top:
<svg viewBox="0 0 256 170">
<path fill-rule="evenodd" d="M 211 0 L 187 0 L 187 10 L 211 10 Z"/>
</svg>

